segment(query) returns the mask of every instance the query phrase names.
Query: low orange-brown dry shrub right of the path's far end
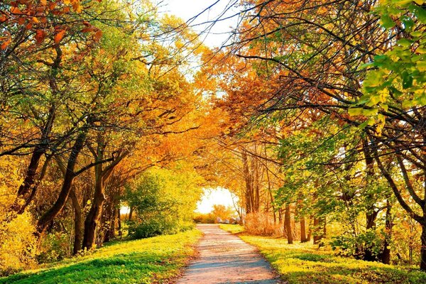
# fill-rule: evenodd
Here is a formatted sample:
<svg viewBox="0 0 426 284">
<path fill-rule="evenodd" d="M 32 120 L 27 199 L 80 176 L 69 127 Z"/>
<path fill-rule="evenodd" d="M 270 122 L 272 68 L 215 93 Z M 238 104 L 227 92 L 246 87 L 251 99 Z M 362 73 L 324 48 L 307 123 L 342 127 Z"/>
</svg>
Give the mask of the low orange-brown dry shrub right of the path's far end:
<svg viewBox="0 0 426 284">
<path fill-rule="evenodd" d="M 273 217 L 268 213 L 250 213 L 246 215 L 246 231 L 258 236 L 283 236 L 283 226 L 273 223 Z"/>
</svg>

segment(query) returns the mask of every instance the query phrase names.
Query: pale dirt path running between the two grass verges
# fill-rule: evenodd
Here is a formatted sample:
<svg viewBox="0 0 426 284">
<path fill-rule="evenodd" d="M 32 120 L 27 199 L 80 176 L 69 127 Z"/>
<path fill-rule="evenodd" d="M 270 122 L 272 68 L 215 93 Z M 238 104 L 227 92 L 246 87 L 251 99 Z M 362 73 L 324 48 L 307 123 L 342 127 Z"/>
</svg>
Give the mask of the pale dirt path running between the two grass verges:
<svg viewBox="0 0 426 284">
<path fill-rule="evenodd" d="M 177 284 L 280 283 L 269 263 L 256 249 L 218 225 L 198 225 L 204 237 L 200 256 L 190 263 Z"/>
</svg>

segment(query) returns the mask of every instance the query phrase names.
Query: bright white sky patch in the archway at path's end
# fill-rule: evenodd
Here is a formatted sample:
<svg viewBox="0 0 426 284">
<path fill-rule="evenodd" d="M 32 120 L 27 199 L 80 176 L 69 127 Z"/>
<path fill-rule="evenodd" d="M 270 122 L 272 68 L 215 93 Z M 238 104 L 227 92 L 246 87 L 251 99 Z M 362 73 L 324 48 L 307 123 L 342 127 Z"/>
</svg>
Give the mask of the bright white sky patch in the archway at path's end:
<svg viewBox="0 0 426 284">
<path fill-rule="evenodd" d="M 234 195 L 234 199 L 236 199 Z M 197 210 L 196 212 L 200 213 L 209 213 L 213 210 L 213 205 L 215 204 L 221 204 L 226 207 L 232 207 L 234 208 L 234 204 L 232 203 L 232 194 L 229 192 L 229 190 L 226 190 L 222 187 L 217 187 L 214 189 L 205 189 L 204 195 L 202 196 L 202 199 L 197 204 Z"/>
</svg>

